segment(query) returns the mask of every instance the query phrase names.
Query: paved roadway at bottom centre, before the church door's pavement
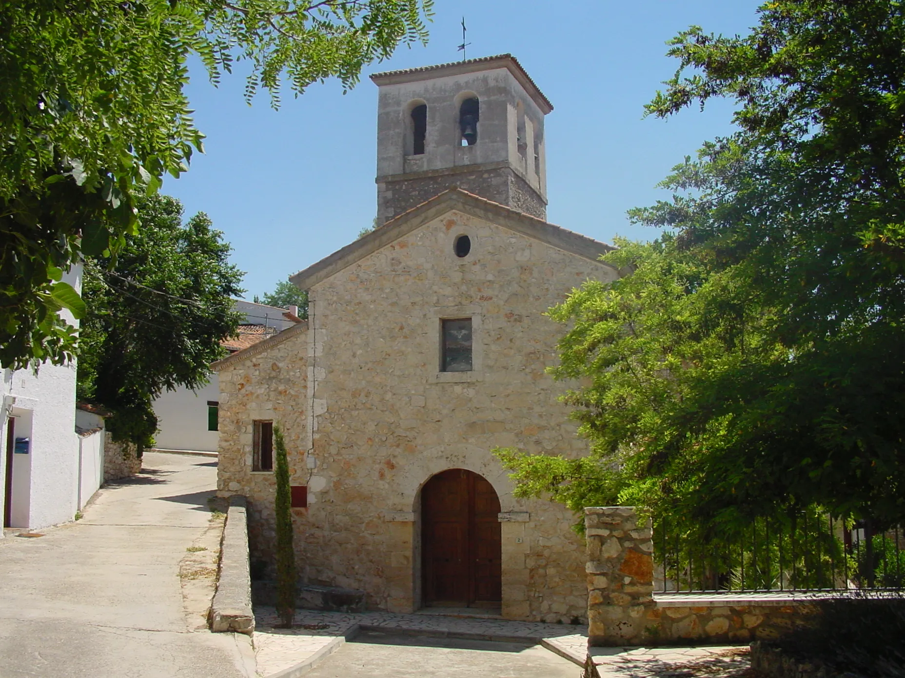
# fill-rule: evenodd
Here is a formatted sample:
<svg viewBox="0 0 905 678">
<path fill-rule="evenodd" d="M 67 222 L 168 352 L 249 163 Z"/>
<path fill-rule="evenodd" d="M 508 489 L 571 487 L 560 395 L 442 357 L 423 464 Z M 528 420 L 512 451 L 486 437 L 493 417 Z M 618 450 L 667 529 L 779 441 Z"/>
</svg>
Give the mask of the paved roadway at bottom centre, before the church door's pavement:
<svg viewBox="0 0 905 678">
<path fill-rule="evenodd" d="M 362 631 L 305 678 L 578 678 L 581 673 L 539 645 Z"/>
</svg>

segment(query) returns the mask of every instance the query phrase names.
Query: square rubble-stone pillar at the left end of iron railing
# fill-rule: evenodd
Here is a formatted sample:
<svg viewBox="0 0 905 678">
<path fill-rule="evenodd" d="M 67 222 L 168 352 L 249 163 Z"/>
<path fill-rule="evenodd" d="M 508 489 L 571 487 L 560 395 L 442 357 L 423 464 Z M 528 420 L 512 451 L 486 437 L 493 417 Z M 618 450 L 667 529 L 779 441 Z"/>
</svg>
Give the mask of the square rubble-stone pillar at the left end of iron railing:
<svg viewBox="0 0 905 678">
<path fill-rule="evenodd" d="M 641 645 L 660 632 L 651 521 L 631 506 L 585 509 L 589 645 Z"/>
</svg>

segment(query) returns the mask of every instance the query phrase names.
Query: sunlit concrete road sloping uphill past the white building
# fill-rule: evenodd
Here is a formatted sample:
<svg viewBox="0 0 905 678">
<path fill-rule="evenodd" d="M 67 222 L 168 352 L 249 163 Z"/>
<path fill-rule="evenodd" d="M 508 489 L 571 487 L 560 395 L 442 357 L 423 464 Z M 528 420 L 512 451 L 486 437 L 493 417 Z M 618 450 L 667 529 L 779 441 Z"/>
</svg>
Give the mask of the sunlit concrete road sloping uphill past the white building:
<svg viewBox="0 0 905 678">
<path fill-rule="evenodd" d="M 233 636 L 191 633 L 183 612 L 179 560 L 215 484 L 210 457 L 146 453 L 81 521 L 0 540 L 0 676 L 244 676 Z"/>
</svg>

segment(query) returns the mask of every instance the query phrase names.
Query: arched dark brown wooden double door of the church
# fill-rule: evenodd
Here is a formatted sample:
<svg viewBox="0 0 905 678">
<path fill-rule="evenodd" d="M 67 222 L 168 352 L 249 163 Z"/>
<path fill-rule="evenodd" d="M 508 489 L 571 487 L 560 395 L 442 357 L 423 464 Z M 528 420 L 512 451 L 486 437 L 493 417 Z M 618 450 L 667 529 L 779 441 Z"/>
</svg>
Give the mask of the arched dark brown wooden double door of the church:
<svg viewBox="0 0 905 678">
<path fill-rule="evenodd" d="M 421 490 L 424 605 L 500 607 L 500 499 L 481 476 L 453 468 Z"/>
</svg>

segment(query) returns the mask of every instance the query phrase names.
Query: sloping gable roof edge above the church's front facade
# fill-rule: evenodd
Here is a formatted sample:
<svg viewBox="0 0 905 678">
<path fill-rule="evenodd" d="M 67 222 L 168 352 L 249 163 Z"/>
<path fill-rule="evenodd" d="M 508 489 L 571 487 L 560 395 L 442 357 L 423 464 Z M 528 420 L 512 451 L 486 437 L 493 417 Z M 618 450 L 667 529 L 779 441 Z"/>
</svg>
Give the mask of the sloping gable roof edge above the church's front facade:
<svg viewBox="0 0 905 678">
<path fill-rule="evenodd" d="M 364 259 L 367 255 L 380 250 L 386 245 L 404 237 L 428 221 L 455 210 L 474 217 L 491 221 L 511 231 L 540 242 L 558 250 L 565 250 L 585 259 L 597 261 L 600 256 L 614 250 L 613 246 L 593 240 L 574 231 L 556 226 L 530 214 L 513 210 L 498 202 L 481 198 L 481 196 L 461 188 L 451 189 L 434 196 L 428 201 L 413 207 L 408 212 L 399 214 L 394 219 L 378 226 L 374 231 L 348 244 L 341 250 L 333 252 L 329 257 L 320 259 L 316 264 L 301 270 L 290 281 L 300 289 L 310 289 L 319 282 L 336 275 L 344 268 Z M 608 266 L 608 264 L 606 264 Z"/>
</svg>

